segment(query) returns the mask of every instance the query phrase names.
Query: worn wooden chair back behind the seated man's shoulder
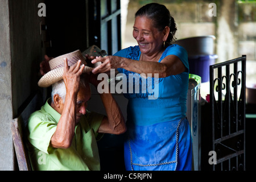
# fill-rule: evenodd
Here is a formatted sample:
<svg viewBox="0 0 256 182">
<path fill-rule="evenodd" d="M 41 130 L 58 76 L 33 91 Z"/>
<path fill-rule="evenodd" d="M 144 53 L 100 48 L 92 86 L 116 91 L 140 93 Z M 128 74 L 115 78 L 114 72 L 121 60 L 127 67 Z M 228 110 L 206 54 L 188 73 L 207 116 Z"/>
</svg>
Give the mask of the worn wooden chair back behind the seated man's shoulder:
<svg viewBox="0 0 256 182">
<path fill-rule="evenodd" d="M 40 109 L 43 100 L 39 93 L 32 94 L 22 106 L 20 106 L 18 117 L 11 121 L 11 133 L 13 135 L 13 143 L 20 171 L 30 171 L 30 160 L 26 147 L 25 130 L 27 121 L 34 111 Z"/>
</svg>

